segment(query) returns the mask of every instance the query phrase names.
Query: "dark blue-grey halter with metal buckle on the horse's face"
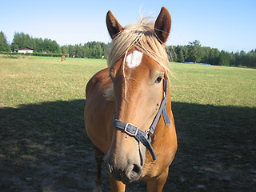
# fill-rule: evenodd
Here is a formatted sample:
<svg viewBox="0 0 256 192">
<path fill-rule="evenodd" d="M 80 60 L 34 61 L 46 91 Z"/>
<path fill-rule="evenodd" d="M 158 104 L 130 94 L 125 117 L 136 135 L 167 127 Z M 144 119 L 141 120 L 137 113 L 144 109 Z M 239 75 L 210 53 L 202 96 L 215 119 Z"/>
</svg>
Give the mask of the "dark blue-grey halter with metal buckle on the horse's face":
<svg viewBox="0 0 256 192">
<path fill-rule="evenodd" d="M 121 122 L 115 118 L 113 121 L 114 127 L 124 131 L 126 134 L 130 135 L 131 137 L 134 137 L 138 142 L 142 142 L 142 144 L 146 146 L 146 149 L 150 151 L 150 154 L 152 155 L 153 160 L 156 160 L 157 156 L 155 155 L 154 149 L 150 144 L 151 135 L 154 134 L 155 127 L 158 124 L 161 114 L 166 123 L 166 126 L 170 125 L 170 119 L 166 111 L 167 91 L 168 91 L 168 82 L 166 81 L 166 79 L 164 79 L 163 80 L 163 98 L 162 98 L 161 106 L 159 107 L 158 114 L 156 114 L 156 116 L 154 117 L 154 121 L 152 122 L 150 128 L 145 132 L 142 130 L 139 130 L 137 126 L 134 126 L 133 124 Z"/>
</svg>

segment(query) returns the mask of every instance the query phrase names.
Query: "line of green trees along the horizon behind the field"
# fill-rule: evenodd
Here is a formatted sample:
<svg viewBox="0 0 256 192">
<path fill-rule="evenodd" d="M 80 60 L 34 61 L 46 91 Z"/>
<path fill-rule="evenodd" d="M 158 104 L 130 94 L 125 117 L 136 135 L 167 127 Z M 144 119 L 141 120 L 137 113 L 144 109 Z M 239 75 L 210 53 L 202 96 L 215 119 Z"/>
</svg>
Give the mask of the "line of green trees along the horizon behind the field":
<svg viewBox="0 0 256 192">
<path fill-rule="evenodd" d="M 9 44 L 6 35 L 0 32 L 0 52 L 11 52 L 30 47 L 38 53 L 64 54 L 76 58 L 106 58 L 109 45 L 104 42 L 86 42 L 83 45 L 59 46 L 56 41 L 45 38 L 33 38 L 29 34 L 15 33 Z M 216 66 L 248 66 L 256 68 L 256 49 L 250 52 L 227 52 L 208 46 L 202 46 L 198 40 L 186 46 L 167 46 L 166 51 L 172 62 L 197 62 Z"/>
</svg>

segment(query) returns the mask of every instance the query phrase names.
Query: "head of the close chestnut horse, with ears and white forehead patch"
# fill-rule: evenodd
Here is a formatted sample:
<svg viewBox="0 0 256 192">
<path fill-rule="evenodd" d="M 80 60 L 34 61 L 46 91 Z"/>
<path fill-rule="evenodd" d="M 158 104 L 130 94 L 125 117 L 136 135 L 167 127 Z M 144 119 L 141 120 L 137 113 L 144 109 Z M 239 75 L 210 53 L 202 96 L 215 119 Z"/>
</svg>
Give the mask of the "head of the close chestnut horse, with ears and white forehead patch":
<svg viewBox="0 0 256 192">
<path fill-rule="evenodd" d="M 113 39 L 108 58 L 113 86 L 106 91 L 106 98 L 113 100 L 115 119 L 106 165 L 112 176 L 124 183 L 141 177 L 146 158 L 155 159 L 150 153 L 146 155 L 148 147 L 134 134 L 142 133 L 147 141 L 152 136 L 154 142 L 155 135 L 148 132 L 165 97 L 169 62 L 165 46 L 170 24 L 170 13 L 164 7 L 155 22 L 142 20 L 126 27 L 111 11 L 106 15 Z"/>
</svg>

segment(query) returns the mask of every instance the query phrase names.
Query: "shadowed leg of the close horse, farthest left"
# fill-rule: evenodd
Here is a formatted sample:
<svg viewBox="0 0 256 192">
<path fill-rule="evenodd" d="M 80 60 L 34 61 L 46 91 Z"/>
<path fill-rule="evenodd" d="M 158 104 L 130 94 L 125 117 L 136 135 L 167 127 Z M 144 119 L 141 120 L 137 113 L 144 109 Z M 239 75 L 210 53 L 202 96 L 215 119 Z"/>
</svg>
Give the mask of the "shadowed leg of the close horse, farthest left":
<svg viewBox="0 0 256 192">
<path fill-rule="evenodd" d="M 97 174 L 94 192 L 102 192 L 102 161 L 104 158 L 104 153 L 102 152 L 102 150 L 98 149 L 98 147 L 95 146 L 94 155 L 97 163 Z"/>
</svg>

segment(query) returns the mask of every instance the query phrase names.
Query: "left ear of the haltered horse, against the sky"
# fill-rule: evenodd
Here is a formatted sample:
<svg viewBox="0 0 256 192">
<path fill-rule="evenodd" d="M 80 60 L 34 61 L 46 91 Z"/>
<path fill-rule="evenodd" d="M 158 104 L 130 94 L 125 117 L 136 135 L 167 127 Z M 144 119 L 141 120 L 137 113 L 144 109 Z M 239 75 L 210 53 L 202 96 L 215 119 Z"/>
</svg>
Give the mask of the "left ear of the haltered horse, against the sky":
<svg viewBox="0 0 256 192">
<path fill-rule="evenodd" d="M 118 19 L 114 17 L 111 10 L 106 14 L 106 26 L 111 38 L 114 38 L 116 34 L 123 30 L 123 27 L 118 22 Z"/>
</svg>

